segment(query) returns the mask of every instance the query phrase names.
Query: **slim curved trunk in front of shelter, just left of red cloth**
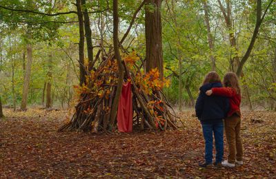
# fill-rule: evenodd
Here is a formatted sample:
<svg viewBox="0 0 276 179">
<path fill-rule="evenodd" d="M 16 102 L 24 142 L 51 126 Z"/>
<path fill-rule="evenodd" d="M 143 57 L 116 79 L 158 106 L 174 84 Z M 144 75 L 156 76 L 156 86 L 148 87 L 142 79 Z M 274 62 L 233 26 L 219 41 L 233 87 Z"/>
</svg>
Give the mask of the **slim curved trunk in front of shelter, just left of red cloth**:
<svg viewBox="0 0 276 179">
<path fill-rule="evenodd" d="M 113 0 L 113 44 L 114 44 L 114 51 L 115 51 L 115 59 L 117 59 L 117 64 L 119 67 L 118 69 L 119 76 L 118 76 L 117 90 L 116 90 L 115 98 L 110 112 L 110 123 L 112 127 L 115 124 L 115 118 L 117 115 L 117 109 L 119 105 L 119 97 L 121 96 L 121 89 L 123 87 L 123 80 L 124 80 L 124 66 L 121 62 L 121 55 L 119 52 L 118 25 L 119 25 L 118 0 Z"/>
</svg>

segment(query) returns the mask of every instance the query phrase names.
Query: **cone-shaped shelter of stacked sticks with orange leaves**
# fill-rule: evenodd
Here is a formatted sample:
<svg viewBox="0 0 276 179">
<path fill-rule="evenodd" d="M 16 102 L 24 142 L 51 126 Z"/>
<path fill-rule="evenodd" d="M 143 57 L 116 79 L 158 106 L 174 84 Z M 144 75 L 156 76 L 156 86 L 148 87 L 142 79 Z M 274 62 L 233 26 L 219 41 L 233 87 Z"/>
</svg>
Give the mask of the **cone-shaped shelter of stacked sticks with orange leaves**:
<svg viewBox="0 0 276 179">
<path fill-rule="evenodd" d="M 132 84 L 133 119 L 139 128 L 154 131 L 177 129 L 177 116 L 162 93 L 162 87 L 144 85 L 145 76 L 147 76 L 147 83 L 155 80 L 155 83 L 163 84 L 158 73 L 155 73 L 155 76 L 144 74 L 141 65 L 140 67 L 137 65 L 133 56 L 125 56 L 123 59 L 124 80 Z M 101 61 L 97 69 L 87 74 L 86 85 L 76 87 L 80 98 L 75 106 L 75 114 L 70 122 L 59 128 L 59 131 L 97 132 L 112 131 L 116 128 L 116 124 L 110 120 L 110 111 L 118 85 L 117 61 L 114 56 L 110 56 Z"/>
</svg>

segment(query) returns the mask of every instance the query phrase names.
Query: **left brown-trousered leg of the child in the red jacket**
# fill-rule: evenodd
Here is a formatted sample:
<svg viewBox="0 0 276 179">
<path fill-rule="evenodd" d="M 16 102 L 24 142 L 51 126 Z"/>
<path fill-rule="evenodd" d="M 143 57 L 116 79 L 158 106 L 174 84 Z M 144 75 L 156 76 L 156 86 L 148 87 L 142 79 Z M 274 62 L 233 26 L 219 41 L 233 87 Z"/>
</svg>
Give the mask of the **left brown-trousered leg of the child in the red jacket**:
<svg viewBox="0 0 276 179">
<path fill-rule="evenodd" d="M 224 120 L 225 134 L 228 143 L 229 155 L 228 162 L 235 163 L 236 160 L 236 133 L 235 127 L 237 125 L 237 118 L 230 116 Z"/>
</svg>

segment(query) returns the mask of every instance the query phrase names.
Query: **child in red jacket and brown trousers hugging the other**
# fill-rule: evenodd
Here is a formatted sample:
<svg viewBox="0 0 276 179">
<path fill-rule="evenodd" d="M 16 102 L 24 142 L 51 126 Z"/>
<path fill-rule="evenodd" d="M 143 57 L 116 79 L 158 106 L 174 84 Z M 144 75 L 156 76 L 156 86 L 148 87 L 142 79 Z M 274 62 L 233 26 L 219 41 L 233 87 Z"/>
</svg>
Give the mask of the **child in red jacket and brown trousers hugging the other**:
<svg viewBox="0 0 276 179">
<path fill-rule="evenodd" d="M 241 103 L 241 89 L 237 75 L 233 72 L 228 72 L 224 76 L 224 87 L 213 87 L 206 92 L 206 95 L 211 94 L 226 96 L 230 100 L 230 111 L 227 118 L 224 120 L 226 139 L 229 147 L 228 160 L 221 164 L 224 167 L 235 167 L 235 163 L 242 165 L 242 139 L 240 137 L 241 129 L 241 111 L 239 105 Z"/>
</svg>

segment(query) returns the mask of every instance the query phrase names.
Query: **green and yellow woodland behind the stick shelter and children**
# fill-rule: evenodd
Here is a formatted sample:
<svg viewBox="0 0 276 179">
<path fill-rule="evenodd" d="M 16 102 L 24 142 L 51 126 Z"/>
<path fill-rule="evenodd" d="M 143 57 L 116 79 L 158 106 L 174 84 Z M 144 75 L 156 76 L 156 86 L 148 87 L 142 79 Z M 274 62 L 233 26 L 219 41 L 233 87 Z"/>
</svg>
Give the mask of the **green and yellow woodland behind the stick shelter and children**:
<svg viewBox="0 0 276 179">
<path fill-rule="evenodd" d="M 276 110 L 276 4 L 258 2 L 161 2 L 164 77 L 170 79 L 164 93 L 172 104 L 179 109 L 193 107 L 207 72 L 216 70 L 222 78 L 228 71 L 239 70 L 242 106 Z M 0 1 L 3 107 L 67 109 L 75 105 L 74 85 L 81 78 L 78 3 L 90 22 L 91 34 L 86 32 L 85 39 L 90 36 L 92 44 L 83 46 L 83 52 L 92 50 L 92 57 L 83 53 L 87 64 L 89 58 L 103 59 L 112 50 L 112 1 Z M 133 23 L 122 45 L 128 52 L 135 50 L 141 61 L 146 58 L 144 3 L 119 1 L 119 39 Z M 258 20 L 262 21 L 250 47 Z M 241 68 L 248 48 L 250 54 Z"/>
</svg>

